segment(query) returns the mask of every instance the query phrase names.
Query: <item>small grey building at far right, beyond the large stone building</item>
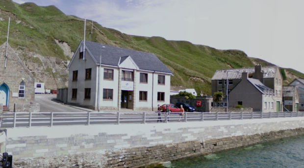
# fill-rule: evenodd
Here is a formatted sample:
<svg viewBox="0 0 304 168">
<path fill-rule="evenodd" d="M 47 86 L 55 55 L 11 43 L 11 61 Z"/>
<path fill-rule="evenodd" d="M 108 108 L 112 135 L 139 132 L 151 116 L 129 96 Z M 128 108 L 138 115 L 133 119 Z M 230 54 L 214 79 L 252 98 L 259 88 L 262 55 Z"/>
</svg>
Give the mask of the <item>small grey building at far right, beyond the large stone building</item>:
<svg viewBox="0 0 304 168">
<path fill-rule="evenodd" d="M 283 86 L 283 111 L 299 111 L 297 86 Z"/>
</svg>

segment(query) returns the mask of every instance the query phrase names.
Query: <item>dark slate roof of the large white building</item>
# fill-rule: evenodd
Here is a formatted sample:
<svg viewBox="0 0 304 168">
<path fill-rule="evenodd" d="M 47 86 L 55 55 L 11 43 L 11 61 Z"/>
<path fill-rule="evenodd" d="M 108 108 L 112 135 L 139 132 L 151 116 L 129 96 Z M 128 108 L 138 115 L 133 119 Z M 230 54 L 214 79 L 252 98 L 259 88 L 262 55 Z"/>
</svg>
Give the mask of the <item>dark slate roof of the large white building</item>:
<svg viewBox="0 0 304 168">
<path fill-rule="evenodd" d="M 82 43 L 82 41 L 80 42 Z M 140 70 L 172 73 L 154 54 L 126 48 L 118 48 L 95 42 L 85 42 L 87 50 L 92 54 L 97 64 L 118 66 L 119 59 L 123 62 L 130 56 Z M 104 46 L 105 48 L 101 47 Z"/>
</svg>

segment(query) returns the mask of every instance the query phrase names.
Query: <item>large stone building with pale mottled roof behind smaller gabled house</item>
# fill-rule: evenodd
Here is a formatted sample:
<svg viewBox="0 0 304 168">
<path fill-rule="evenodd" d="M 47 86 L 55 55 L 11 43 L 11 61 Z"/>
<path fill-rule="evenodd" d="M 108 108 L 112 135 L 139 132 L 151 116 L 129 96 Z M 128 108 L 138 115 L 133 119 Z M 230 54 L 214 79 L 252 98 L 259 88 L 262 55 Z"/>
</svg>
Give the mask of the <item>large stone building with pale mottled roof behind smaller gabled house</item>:
<svg viewBox="0 0 304 168">
<path fill-rule="evenodd" d="M 217 70 L 211 78 L 211 94 L 213 95 L 216 92 L 223 92 L 225 98 L 221 103 L 227 105 L 227 89 L 229 95 L 229 93 L 234 89 L 234 87 L 242 81 L 243 72 L 248 73 L 248 78 L 257 79 L 266 87 L 274 90 L 274 109 L 276 111 L 282 111 L 283 79 L 278 66 L 262 67 L 261 65 L 256 65 L 252 68 Z M 232 104 L 235 103 L 236 102 Z M 229 104 L 229 106 L 232 106 L 232 104 Z"/>
</svg>

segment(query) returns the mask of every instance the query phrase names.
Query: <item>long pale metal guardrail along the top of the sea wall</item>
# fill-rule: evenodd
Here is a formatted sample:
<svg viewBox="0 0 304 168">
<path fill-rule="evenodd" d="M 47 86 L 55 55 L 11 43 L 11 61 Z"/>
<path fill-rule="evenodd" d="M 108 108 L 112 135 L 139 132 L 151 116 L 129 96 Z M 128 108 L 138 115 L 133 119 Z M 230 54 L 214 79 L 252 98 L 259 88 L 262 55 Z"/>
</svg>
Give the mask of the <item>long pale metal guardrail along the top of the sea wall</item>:
<svg viewBox="0 0 304 168">
<path fill-rule="evenodd" d="M 127 123 L 155 123 L 155 122 L 191 122 L 213 120 L 253 120 L 263 118 L 304 117 L 304 112 L 231 112 L 231 113 L 184 113 L 184 119 L 179 113 L 126 113 L 126 112 L 51 112 L 51 113 L 4 113 L 0 127 L 31 127 L 55 125 L 90 125 L 90 124 L 127 124 Z M 167 120 L 166 120 L 167 119 Z"/>
</svg>

